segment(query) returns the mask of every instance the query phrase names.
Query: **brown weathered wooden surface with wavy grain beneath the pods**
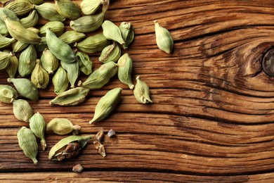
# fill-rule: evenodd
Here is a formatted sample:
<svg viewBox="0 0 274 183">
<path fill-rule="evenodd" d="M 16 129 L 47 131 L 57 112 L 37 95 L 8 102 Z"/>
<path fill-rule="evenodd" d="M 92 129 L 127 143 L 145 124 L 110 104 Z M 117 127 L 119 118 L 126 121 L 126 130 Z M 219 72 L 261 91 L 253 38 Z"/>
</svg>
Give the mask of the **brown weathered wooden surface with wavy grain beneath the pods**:
<svg viewBox="0 0 274 183">
<path fill-rule="evenodd" d="M 81 134 L 112 128 L 117 136 L 105 138 L 105 158 L 91 142 L 80 156 L 51 162 L 48 152 L 63 137 L 46 134 L 37 165 L 16 138 L 28 124 L 0 103 L 0 181 L 274 182 L 274 78 L 261 69 L 274 46 L 273 1 L 111 1 L 105 19 L 133 23 L 136 39 L 126 52 L 154 103 L 139 104 L 117 77 L 79 106 L 50 106 L 52 85 L 41 90 L 30 103 L 46 122 L 68 118 Z M 155 19 L 174 37 L 170 55 L 157 49 Z M 98 54 L 91 56 L 96 68 Z M 0 84 L 7 77 L 1 71 Z M 115 112 L 89 125 L 100 97 L 115 87 L 124 89 Z M 77 163 L 81 174 L 72 172 Z"/>
</svg>

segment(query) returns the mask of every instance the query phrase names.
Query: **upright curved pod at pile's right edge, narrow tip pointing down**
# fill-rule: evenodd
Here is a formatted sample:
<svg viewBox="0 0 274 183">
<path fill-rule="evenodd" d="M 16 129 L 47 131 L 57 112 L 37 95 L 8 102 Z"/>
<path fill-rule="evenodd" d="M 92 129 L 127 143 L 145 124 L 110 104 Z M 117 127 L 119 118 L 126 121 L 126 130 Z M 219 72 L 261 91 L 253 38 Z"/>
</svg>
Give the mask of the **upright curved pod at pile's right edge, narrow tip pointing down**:
<svg viewBox="0 0 274 183">
<path fill-rule="evenodd" d="M 119 80 L 127 84 L 130 89 L 134 88 L 134 84 L 131 81 L 132 60 L 128 53 L 124 53 L 118 61 L 118 78 Z"/>
</svg>

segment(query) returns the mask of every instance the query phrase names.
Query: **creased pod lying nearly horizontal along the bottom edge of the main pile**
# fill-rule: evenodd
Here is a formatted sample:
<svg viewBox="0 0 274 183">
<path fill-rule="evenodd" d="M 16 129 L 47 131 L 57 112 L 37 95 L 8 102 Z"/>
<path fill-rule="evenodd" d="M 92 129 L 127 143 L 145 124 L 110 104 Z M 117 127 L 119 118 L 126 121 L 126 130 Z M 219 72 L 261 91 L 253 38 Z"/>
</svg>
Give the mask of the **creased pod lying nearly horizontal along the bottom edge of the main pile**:
<svg viewBox="0 0 274 183">
<path fill-rule="evenodd" d="M 89 94 L 89 89 L 76 87 L 58 94 L 58 96 L 49 103 L 59 106 L 76 106 L 86 99 L 87 94 Z"/>
</svg>

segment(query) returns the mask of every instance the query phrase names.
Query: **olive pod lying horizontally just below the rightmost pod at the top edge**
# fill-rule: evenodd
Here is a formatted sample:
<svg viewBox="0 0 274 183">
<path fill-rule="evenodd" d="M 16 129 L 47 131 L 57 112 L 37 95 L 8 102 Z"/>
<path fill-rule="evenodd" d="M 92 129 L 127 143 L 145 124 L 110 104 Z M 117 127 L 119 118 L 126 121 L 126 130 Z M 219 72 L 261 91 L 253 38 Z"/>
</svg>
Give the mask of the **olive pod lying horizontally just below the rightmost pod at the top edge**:
<svg viewBox="0 0 274 183">
<path fill-rule="evenodd" d="M 105 13 L 82 16 L 70 21 L 70 27 L 77 32 L 92 32 L 97 30 L 103 23 Z"/>
</svg>

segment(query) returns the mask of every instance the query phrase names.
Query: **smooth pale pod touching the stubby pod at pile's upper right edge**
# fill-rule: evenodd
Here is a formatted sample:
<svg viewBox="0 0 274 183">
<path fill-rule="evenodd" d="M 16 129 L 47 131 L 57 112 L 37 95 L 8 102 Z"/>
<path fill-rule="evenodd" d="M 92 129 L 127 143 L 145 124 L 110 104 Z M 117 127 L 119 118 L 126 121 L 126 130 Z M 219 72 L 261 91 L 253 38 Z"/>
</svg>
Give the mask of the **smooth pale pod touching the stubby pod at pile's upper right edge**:
<svg viewBox="0 0 274 183">
<path fill-rule="evenodd" d="M 110 22 L 110 20 L 105 20 L 102 24 L 102 28 L 105 38 L 113 40 L 115 42 L 119 42 L 119 44 L 122 45 L 125 44 L 119 27 L 117 27 L 117 25 L 115 25 L 114 23 Z"/>
</svg>

